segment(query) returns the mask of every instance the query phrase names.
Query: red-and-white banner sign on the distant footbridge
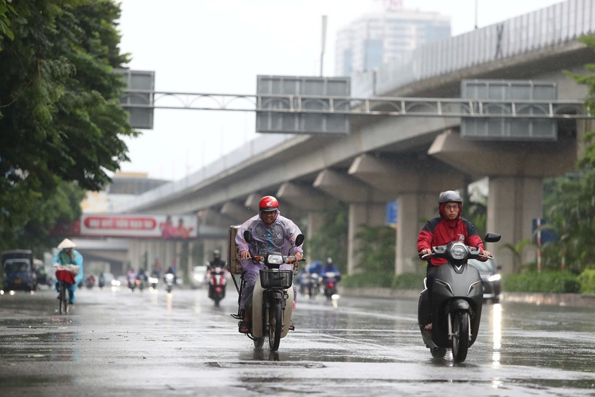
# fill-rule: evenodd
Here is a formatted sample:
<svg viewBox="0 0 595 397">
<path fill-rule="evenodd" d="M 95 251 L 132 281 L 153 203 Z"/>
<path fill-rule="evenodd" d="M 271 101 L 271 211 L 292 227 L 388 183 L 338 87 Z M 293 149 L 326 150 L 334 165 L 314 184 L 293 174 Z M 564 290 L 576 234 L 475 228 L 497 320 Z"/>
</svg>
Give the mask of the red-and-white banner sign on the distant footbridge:
<svg viewBox="0 0 595 397">
<path fill-rule="evenodd" d="M 195 239 L 196 215 L 84 214 L 80 237 Z"/>
</svg>

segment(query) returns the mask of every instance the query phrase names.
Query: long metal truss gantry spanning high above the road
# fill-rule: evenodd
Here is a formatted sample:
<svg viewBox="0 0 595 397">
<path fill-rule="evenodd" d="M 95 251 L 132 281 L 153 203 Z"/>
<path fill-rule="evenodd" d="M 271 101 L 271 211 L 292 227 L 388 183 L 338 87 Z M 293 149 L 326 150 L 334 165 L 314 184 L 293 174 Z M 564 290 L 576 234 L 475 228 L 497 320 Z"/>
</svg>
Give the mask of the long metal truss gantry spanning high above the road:
<svg viewBox="0 0 595 397">
<path fill-rule="evenodd" d="M 234 112 L 313 113 L 394 117 L 504 117 L 593 119 L 583 101 L 496 100 L 415 97 L 336 97 L 322 95 L 244 95 L 126 90 L 126 97 L 148 98 L 124 108 L 225 110 Z M 316 103 L 319 108 L 308 106 Z"/>
</svg>

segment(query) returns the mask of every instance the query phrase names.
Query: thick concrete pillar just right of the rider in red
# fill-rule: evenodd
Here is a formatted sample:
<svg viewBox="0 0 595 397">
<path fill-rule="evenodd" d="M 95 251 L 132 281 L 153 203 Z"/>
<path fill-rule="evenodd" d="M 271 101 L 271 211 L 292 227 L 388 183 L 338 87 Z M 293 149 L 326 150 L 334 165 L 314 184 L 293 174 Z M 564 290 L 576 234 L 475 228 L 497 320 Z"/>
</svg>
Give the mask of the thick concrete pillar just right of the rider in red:
<svg viewBox="0 0 595 397">
<path fill-rule="evenodd" d="M 487 232 L 502 234 L 502 239 L 488 244 L 487 250 L 494 254 L 503 273 L 515 273 L 523 263 L 535 261 L 535 246 L 526 247 L 519 261 L 505 244 L 533 239 L 533 219 L 542 217 L 542 203 L 542 178 L 489 178 Z"/>
</svg>

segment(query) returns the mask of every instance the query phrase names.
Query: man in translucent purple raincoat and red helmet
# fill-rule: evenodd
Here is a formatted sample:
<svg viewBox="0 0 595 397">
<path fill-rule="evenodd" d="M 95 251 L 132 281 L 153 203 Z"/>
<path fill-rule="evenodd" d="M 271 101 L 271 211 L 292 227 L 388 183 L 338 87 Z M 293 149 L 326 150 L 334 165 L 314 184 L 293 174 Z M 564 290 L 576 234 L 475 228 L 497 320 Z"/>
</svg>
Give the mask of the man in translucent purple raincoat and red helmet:
<svg viewBox="0 0 595 397">
<path fill-rule="evenodd" d="M 240 309 L 243 312 L 243 320 L 238 324 L 239 332 L 250 332 L 250 322 L 252 313 L 245 310 L 245 306 L 252 302 L 252 291 L 256 284 L 256 278 L 260 269 L 265 269 L 265 265 L 250 259 L 253 254 L 267 254 L 268 252 L 280 252 L 282 255 L 288 255 L 290 248 L 298 234 L 301 234 L 300 228 L 291 221 L 291 219 L 280 215 L 279 202 L 273 196 L 265 196 L 258 203 L 258 215 L 254 215 L 245 221 L 236 234 L 236 245 L 240 252 L 242 268 L 245 272 L 245 287 L 242 290 Z M 244 240 L 245 230 L 252 232 L 253 242 L 248 244 Z M 294 250 L 295 258 L 302 260 L 302 246 Z M 293 265 L 281 265 L 280 269 L 293 269 Z M 295 285 L 293 286 L 293 295 L 297 293 Z"/>
</svg>

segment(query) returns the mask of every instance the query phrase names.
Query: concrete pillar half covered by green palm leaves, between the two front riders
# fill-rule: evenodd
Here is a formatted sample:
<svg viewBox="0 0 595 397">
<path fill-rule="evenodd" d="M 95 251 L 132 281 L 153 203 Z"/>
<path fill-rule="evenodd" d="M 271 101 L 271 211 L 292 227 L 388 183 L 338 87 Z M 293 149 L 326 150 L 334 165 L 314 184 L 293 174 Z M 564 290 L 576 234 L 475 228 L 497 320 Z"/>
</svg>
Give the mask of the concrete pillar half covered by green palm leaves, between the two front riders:
<svg viewBox="0 0 595 397">
<path fill-rule="evenodd" d="M 363 204 L 353 203 L 349 205 L 349 227 L 348 227 L 348 252 L 347 252 L 347 274 L 358 272 L 355 268 L 359 264 L 360 246 L 356 234 L 359 226 L 379 226 L 386 222 L 386 204 Z"/>
</svg>

